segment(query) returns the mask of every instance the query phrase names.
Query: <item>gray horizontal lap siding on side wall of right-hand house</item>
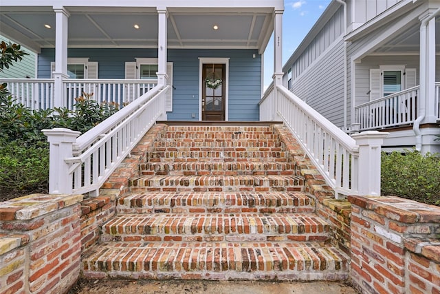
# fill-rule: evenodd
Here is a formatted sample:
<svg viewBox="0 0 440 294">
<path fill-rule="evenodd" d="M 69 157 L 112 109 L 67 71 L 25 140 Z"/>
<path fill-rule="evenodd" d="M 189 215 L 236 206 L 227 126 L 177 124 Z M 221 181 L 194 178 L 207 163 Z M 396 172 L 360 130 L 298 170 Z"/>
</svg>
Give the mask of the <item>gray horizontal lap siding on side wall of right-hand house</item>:
<svg viewBox="0 0 440 294">
<path fill-rule="evenodd" d="M 338 127 L 344 125 L 343 42 L 294 80 L 292 92 Z"/>
</svg>

